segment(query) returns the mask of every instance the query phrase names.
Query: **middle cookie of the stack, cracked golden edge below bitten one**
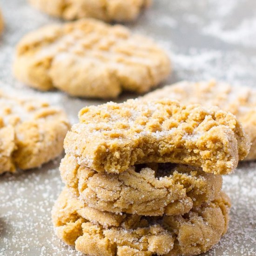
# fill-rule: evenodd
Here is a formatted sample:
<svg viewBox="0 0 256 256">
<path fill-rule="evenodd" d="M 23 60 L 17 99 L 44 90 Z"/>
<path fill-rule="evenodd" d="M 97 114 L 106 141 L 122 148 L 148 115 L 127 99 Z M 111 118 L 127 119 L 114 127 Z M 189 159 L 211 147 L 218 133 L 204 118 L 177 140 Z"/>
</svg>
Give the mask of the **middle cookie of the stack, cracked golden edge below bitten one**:
<svg viewBox="0 0 256 256">
<path fill-rule="evenodd" d="M 98 173 L 77 164 L 73 156 L 61 161 L 66 186 L 89 207 L 144 216 L 180 215 L 211 202 L 222 188 L 222 176 L 181 164 L 148 164 L 120 174 Z"/>
</svg>

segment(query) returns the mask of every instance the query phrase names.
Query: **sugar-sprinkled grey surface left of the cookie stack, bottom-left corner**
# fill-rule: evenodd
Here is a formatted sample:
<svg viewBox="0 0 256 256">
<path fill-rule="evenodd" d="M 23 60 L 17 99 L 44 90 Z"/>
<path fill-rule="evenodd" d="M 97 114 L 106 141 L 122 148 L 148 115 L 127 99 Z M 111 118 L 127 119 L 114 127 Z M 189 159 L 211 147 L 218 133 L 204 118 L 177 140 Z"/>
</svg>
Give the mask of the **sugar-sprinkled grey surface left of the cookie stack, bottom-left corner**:
<svg viewBox="0 0 256 256">
<path fill-rule="evenodd" d="M 63 187 L 60 159 L 0 180 L 0 255 L 81 255 L 54 235 L 51 209 Z"/>
</svg>

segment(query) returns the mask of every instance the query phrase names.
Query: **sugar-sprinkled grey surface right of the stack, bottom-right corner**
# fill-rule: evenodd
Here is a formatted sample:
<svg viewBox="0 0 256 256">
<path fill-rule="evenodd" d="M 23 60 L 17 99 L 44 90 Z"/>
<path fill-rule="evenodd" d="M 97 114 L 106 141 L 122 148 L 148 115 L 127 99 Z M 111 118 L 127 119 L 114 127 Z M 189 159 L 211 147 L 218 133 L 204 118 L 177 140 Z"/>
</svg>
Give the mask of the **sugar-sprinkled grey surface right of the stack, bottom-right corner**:
<svg viewBox="0 0 256 256">
<path fill-rule="evenodd" d="M 243 163 L 224 176 L 223 189 L 232 201 L 229 229 L 208 255 L 256 255 L 256 163 Z"/>
</svg>

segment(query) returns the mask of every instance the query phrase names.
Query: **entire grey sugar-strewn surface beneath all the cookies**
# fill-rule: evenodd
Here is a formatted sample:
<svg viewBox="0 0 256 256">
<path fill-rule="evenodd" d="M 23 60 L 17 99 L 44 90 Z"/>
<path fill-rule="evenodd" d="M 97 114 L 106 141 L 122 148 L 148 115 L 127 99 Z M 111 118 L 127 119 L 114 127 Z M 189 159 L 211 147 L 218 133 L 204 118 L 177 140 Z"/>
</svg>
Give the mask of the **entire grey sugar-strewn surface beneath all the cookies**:
<svg viewBox="0 0 256 256">
<path fill-rule="evenodd" d="M 6 29 L 0 39 L 0 87 L 40 95 L 63 106 L 72 122 L 85 105 L 60 92 L 40 93 L 13 78 L 14 46 L 28 31 L 53 21 L 25 0 L 0 0 Z M 170 53 L 174 72 L 166 83 L 209 78 L 254 87 L 256 82 L 255 0 L 155 0 L 134 23 L 137 33 L 149 35 Z M 122 95 L 122 101 L 135 95 Z M 0 255 L 80 255 L 54 235 L 50 211 L 63 184 L 59 160 L 40 169 L 0 177 Z M 224 177 L 233 208 L 228 233 L 206 255 L 256 255 L 256 162 L 240 164 Z"/>
</svg>

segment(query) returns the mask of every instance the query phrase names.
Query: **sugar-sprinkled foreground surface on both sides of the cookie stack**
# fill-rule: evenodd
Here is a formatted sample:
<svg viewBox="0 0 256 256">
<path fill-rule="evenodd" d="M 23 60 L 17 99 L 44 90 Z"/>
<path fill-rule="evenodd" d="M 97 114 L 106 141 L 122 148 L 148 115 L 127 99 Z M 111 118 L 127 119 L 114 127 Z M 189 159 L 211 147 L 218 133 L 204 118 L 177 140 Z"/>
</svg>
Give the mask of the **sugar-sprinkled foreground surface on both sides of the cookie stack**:
<svg viewBox="0 0 256 256">
<path fill-rule="evenodd" d="M 55 236 L 51 209 L 63 183 L 60 159 L 38 170 L 4 175 L 0 180 L 0 255 L 77 255 Z M 233 206 L 228 233 L 205 255 L 249 255 L 256 250 L 256 163 L 243 163 L 224 177 Z"/>
</svg>

